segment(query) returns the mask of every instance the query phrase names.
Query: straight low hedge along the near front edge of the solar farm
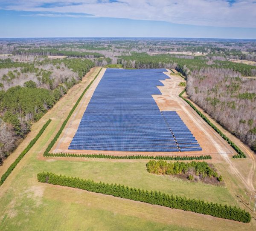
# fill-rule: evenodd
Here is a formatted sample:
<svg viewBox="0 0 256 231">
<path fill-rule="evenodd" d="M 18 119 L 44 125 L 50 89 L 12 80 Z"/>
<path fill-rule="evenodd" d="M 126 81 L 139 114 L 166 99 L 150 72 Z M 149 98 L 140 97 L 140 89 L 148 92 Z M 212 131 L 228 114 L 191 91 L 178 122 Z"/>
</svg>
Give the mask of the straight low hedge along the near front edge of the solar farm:
<svg viewBox="0 0 256 231">
<path fill-rule="evenodd" d="M 87 157 L 87 158 L 103 158 L 103 159 L 151 159 L 151 160 L 211 160 L 210 155 L 201 156 L 147 156 L 147 155 L 129 155 L 114 156 L 105 154 L 73 154 L 73 153 L 48 153 L 47 157 Z"/>
</svg>

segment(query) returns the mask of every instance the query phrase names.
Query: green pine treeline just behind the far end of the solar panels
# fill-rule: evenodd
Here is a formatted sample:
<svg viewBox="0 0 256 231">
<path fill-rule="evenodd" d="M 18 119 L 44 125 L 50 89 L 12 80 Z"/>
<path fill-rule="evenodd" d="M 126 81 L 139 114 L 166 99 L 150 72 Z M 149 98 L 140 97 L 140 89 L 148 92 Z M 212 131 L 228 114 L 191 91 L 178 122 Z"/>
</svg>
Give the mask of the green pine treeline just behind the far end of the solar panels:
<svg viewBox="0 0 256 231">
<path fill-rule="evenodd" d="M 190 71 L 200 70 L 207 67 L 231 69 L 233 71 L 238 71 L 243 76 L 256 75 L 255 66 L 220 60 L 214 60 L 209 63 L 209 60 L 202 56 L 178 58 L 172 54 L 148 55 L 145 52 L 132 52 L 131 55 L 117 57 L 117 63 L 122 64 L 124 68 L 175 68 L 185 76 L 187 76 Z"/>
</svg>

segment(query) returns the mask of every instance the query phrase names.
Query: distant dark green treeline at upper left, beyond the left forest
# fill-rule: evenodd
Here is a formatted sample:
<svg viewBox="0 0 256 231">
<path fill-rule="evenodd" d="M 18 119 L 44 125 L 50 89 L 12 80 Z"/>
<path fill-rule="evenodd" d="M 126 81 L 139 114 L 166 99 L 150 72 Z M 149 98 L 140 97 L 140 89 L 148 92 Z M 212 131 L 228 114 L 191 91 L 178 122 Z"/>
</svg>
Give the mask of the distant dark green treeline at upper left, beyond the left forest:
<svg viewBox="0 0 256 231">
<path fill-rule="evenodd" d="M 99 58 L 104 57 L 103 54 L 97 52 L 85 52 L 85 51 L 64 51 L 53 48 L 34 48 L 34 49 L 20 49 L 13 51 L 12 54 L 19 55 L 64 55 L 68 57 L 79 57 L 79 58 Z"/>
</svg>

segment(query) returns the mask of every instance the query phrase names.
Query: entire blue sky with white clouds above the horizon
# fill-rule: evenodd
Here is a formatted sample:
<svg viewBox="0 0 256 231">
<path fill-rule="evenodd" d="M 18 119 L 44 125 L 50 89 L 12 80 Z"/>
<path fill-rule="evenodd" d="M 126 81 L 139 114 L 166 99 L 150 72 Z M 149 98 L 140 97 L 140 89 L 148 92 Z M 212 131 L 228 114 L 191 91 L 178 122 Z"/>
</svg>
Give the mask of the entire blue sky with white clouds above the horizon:
<svg viewBox="0 0 256 231">
<path fill-rule="evenodd" d="M 256 0 L 0 0 L 0 37 L 256 39 Z"/>
</svg>

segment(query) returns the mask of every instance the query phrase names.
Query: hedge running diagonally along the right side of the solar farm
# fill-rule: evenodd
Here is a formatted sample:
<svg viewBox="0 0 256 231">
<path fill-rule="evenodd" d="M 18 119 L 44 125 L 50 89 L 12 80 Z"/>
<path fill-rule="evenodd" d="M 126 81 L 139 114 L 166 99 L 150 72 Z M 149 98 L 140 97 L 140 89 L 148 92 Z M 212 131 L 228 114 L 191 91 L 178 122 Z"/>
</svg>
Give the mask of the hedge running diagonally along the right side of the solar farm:
<svg viewBox="0 0 256 231">
<path fill-rule="evenodd" d="M 200 115 L 200 116 L 204 119 L 204 121 L 206 121 L 215 131 L 218 132 L 218 134 L 221 135 L 221 137 L 222 137 L 224 140 L 227 141 L 227 143 L 230 144 L 230 146 L 231 146 L 232 148 L 234 148 L 234 149 L 236 150 L 236 152 L 237 152 L 238 154 L 234 155 L 233 158 L 246 158 L 246 155 L 244 154 L 244 152 L 241 151 L 241 149 L 240 149 L 235 143 L 233 143 L 225 134 L 223 134 L 222 131 L 219 130 L 219 129 L 218 129 L 201 111 L 199 111 L 189 100 L 185 99 L 185 98 L 182 96 L 185 91 L 186 91 L 186 89 L 183 90 L 183 91 L 179 94 L 179 97 L 181 97 L 183 100 L 185 100 L 185 101 L 189 104 L 189 106 L 191 106 L 191 107 L 197 112 L 197 114 Z"/>
</svg>

